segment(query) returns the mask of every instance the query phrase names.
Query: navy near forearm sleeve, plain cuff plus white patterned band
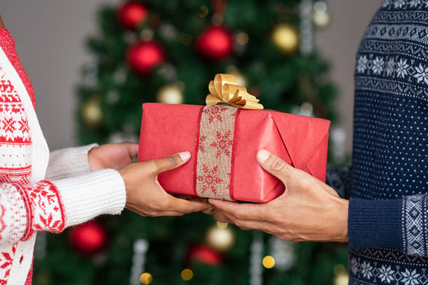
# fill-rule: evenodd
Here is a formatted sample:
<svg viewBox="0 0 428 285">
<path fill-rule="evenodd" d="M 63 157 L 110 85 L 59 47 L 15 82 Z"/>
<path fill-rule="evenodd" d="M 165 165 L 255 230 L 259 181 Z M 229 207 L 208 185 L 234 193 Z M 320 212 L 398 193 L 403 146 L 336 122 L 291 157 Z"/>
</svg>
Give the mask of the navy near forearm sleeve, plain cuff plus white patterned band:
<svg viewBox="0 0 428 285">
<path fill-rule="evenodd" d="M 351 198 L 350 248 L 388 247 L 428 256 L 428 193 L 394 200 Z"/>
</svg>

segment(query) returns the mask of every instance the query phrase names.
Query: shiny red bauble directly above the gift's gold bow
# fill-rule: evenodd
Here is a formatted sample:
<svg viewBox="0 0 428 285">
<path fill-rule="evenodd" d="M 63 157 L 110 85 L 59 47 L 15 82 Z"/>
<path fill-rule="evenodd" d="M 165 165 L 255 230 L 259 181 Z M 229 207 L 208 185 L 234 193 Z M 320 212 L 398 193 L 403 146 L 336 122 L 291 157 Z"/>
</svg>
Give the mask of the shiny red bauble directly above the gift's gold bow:
<svg viewBox="0 0 428 285">
<path fill-rule="evenodd" d="M 208 59 L 224 59 L 232 52 L 232 37 L 224 27 L 208 27 L 196 41 L 197 50 Z"/>
</svg>

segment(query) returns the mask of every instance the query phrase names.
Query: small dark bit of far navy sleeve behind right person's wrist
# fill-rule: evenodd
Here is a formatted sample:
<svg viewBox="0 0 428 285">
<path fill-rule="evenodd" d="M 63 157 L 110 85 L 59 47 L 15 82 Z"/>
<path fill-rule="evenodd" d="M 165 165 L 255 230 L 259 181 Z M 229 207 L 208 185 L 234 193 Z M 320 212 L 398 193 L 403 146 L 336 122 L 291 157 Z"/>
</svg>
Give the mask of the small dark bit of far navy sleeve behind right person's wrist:
<svg viewBox="0 0 428 285">
<path fill-rule="evenodd" d="M 325 183 L 333 188 L 338 196 L 349 199 L 351 188 L 352 168 L 351 166 L 327 168 Z"/>
</svg>

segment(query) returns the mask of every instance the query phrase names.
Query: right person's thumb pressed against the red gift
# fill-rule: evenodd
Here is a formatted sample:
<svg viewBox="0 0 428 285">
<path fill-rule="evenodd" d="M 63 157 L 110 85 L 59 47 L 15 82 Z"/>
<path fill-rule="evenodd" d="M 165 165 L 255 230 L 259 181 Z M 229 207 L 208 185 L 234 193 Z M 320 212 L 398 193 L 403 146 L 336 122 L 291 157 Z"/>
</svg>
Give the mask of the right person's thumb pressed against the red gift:
<svg viewBox="0 0 428 285">
<path fill-rule="evenodd" d="M 273 176 L 278 177 L 282 182 L 288 180 L 294 171 L 294 168 L 290 166 L 290 164 L 265 149 L 261 149 L 257 152 L 257 161 L 259 161 L 259 164 L 264 168 L 264 170 L 271 173 Z"/>
</svg>

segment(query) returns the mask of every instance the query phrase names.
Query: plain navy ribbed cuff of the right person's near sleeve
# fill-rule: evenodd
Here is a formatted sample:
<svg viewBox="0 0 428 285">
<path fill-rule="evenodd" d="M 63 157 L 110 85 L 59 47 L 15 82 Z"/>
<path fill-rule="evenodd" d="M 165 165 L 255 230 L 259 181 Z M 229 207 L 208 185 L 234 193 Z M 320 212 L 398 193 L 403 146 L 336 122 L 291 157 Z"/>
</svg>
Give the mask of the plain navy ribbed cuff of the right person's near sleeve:
<svg viewBox="0 0 428 285">
<path fill-rule="evenodd" d="M 351 198 L 348 210 L 350 248 L 388 247 L 402 250 L 401 203 L 401 199 Z"/>
</svg>

